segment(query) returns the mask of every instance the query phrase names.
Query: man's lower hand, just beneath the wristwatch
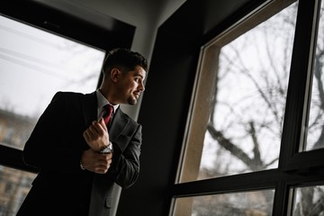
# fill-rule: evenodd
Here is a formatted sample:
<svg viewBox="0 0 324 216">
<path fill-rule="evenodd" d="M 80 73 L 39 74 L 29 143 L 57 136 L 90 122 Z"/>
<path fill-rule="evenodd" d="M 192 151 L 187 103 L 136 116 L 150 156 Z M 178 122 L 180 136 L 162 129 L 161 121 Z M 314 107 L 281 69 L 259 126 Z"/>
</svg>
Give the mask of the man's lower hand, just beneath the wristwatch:
<svg viewBox="0 0 324 216">
<path fill-rule="evenodd" d="M 81 163 L 91 172 L 105 174 L 112 164 L 112 153 L 100 154 L 89 148 L 83 153 Z"/>
</svg>

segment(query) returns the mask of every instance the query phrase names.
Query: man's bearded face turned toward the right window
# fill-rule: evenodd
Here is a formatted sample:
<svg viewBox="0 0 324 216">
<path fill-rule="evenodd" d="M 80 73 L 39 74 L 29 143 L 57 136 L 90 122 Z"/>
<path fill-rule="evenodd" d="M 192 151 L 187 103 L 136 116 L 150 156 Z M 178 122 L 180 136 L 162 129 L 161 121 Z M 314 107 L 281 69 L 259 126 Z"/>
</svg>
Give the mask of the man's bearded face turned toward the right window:
<svg viewBox="0 0 324 216">
<path fill-rule="evenodd" d="M 121 73 L 117 84 L 117 94 L 121 103 L 134 105 L 138 102 L 139 95 L 145 90 L 144 79 L 146 71 L 142 67 L 135 67 L 134 70 Z"/>
</svg>

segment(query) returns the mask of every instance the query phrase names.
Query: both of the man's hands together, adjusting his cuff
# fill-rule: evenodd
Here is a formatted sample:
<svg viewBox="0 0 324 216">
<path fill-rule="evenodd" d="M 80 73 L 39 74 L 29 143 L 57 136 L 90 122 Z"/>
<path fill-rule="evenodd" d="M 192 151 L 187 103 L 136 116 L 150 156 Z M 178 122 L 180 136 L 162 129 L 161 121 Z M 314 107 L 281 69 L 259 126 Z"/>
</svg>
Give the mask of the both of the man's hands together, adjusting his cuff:
<svg viewBox="0 0 324 216">
<path fill-rule="evenodd" d="M 112 153 L 100 153 L 103 147 L 109 145 L 109 133 L 103 118 L 93 121 L 83 136 L 90 148 L 85 150 L 81 157 L 82 166 L 94 173 L 105 174 L 112 164 Z"/>
</svg>

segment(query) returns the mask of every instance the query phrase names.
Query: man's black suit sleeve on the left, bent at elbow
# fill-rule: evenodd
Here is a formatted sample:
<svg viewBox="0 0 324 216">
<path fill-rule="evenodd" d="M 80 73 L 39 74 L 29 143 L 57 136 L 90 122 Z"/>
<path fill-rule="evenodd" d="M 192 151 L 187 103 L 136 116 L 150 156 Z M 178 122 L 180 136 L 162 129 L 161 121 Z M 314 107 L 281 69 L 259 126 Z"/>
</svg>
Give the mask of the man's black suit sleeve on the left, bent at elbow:
<svg viewBox="0 0 324 216">
<path fill-rule="evenodd" d="M 82 151 L 68 145 L 65 140 L 66 120 L 66 97 L 57 93 L 41 114 L 25 144 L 23 160 L 27 165 L 63 172 L 79 170 L 78 161 Z"/>
</svg>

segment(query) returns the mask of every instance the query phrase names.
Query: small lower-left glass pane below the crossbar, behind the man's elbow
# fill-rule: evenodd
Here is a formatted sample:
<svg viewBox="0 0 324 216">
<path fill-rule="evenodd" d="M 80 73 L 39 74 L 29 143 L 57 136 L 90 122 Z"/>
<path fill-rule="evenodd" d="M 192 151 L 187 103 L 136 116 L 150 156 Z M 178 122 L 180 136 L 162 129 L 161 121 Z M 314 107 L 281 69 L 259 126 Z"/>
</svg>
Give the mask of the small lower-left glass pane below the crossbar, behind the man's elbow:
<svg viewBox="0 0 324 216">
<path fill-rule="evenodd" d="M 0 215 L 14 216 L 36 175 L 0 166 Z"/>
</svg>

